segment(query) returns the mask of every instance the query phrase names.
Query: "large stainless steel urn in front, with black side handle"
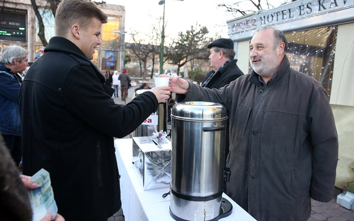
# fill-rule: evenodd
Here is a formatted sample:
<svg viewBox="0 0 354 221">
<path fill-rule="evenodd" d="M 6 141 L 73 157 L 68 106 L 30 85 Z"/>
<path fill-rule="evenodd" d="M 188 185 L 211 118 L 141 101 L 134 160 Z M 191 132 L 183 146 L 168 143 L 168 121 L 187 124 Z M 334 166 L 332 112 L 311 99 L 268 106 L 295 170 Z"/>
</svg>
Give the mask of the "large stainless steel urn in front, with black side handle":
<svg viewBox="0 0 354 221">
<path fill-rule="evenodd" d="M 227 118 L 217 103 L 185 102 L 172 109 L 170 214 L 177 221 L 231 214 L 231 203 L 222 198 Z M 229 208 L 222 208 L 225 200 Z"/>
</svg>

